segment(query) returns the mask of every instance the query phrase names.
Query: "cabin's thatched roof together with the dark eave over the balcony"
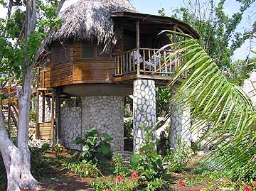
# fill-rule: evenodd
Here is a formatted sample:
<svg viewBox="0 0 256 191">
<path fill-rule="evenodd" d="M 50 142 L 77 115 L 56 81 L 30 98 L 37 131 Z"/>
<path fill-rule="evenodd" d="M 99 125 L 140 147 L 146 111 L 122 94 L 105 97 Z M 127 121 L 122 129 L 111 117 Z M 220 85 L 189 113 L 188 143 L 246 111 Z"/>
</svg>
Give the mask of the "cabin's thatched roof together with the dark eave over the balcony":
<svg viewBox="0 0 256 191">
<path fill-rule="evenodd" d="M 159 21 L 164 26 L 176 25 L 198 38 L 196 31 L 186 23 L 163 16 L 138 13 L 129 0 L 80 0 L 69 6 L 59 15 L 62 26 L 53 33 L 51 42 L 55 40 L 73 39 L 75 41 L 97 41 L 105 44 L 103 52 L 111 50 L 112 45 L 122 35 L 122 23 L 114 22 L 114 18 L 125 17 L 140 21 Z"/>
</svg>

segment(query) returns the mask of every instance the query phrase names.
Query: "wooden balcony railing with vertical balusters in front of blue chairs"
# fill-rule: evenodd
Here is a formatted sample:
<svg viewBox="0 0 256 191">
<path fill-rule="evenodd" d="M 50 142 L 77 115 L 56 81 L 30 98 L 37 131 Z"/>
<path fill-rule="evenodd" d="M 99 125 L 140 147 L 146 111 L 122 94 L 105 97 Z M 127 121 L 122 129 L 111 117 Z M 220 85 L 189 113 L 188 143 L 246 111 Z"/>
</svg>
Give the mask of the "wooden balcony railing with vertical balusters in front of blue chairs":
<svg viewBox="0 0 256 191">
<path fill-rule="evenodd" d="M 171 60 L 173 50 L 139 48 L 114 55 L 115 76 L 129 74 L 173 75 L 178 67 L 178 60 Z"/>
</svg>

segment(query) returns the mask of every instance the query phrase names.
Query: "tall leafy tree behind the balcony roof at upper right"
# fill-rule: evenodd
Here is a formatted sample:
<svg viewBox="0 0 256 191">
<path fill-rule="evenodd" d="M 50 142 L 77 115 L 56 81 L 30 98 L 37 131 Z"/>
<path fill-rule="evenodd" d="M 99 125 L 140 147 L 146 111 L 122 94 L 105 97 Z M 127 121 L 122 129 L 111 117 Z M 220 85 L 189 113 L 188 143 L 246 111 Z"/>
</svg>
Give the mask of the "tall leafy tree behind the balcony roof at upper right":
<svg viewBox="0 0 256 191">
<path fill-rule="evenodd" d="M 245 40 L 251 38 L 255 30 L 255 21 L 252 21 L 252 27 L 247 31 L 239 28 L 242 16 L 255 3 L 255 0 L 235 2 L 240 6 L 240 10 L 232 16 L 228 16 L 225 12 L 226 0 L 184 2 L 186 6 L 174 9 L 172 16 L 190 24 L 200 36 L 198 43 L 215 60 L 220 70 L 228 72 L 231 82 L 242 84 L 242 80 L 252 72 L 251 66 L 245 67 L 242 61 L 233 62 L 232 56 Z M 159 13 L 161 16 L 166 16 L 164 8 L 159 9 Z"/>
</svg>

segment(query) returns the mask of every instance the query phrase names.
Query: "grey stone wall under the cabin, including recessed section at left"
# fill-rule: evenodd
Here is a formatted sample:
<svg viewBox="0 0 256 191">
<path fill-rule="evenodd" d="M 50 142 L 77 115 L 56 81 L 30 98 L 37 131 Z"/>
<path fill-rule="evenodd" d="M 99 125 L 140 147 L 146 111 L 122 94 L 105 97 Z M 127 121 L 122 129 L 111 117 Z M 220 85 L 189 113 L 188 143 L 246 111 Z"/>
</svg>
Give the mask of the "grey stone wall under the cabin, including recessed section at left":
<svg viewBox="0 0 256 191">
<path fill-rule="evenodd" d="M 124 98 L 114 96 L 82 97 L 80 106 L 67 102 L 60 108 L 60 136 L 68 148 L 79 149 L 73 143 L 77 136 L 96 128 L 114 138 L 113 151 L 124 149 Z"/>
</svg>

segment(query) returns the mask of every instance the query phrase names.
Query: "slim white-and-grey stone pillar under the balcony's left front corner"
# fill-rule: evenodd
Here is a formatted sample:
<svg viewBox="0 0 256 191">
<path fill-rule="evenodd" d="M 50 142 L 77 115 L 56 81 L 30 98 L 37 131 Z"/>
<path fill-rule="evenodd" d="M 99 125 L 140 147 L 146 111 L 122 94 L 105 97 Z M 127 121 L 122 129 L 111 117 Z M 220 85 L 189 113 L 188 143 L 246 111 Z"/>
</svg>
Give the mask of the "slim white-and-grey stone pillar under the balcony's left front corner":
<svg viewBox="0 0 256 191">
<path fill-rule="evenodd" d="M 133 93 L 134 152 L 142 147 L 145 132 L 140 126 L 156 125 L 156 88 L 154 80 L 135 80 Z"/>
</svg>

